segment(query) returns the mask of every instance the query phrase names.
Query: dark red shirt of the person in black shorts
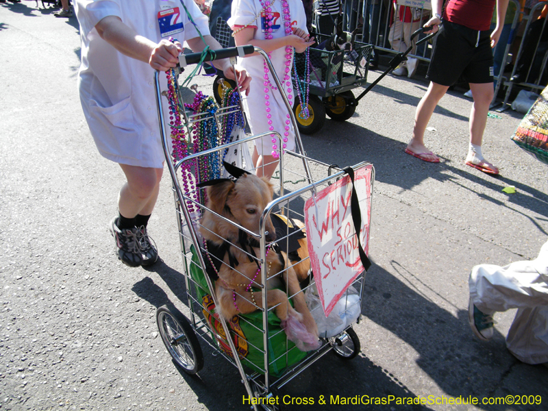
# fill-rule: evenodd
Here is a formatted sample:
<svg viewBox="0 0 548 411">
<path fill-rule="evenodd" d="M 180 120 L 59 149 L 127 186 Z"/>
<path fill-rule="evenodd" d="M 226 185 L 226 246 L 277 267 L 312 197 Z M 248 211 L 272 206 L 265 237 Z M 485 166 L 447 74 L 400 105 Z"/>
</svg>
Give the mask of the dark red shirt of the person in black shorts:
<svg viewBox="0 0 548 411">
<path fill-rule="evenodd" d="M 488 30 L 496 0 L 449 0 L 443 18 L 473 30 Z"/>
</svg>

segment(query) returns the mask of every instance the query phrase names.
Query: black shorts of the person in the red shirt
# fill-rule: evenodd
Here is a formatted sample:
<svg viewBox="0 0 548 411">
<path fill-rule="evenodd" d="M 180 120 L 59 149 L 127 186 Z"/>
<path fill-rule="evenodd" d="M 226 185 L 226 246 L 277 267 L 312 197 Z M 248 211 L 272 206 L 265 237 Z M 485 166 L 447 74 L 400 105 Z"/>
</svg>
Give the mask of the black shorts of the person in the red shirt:
<svg viewBox="0 0 548 411">
<path fill-rule="evenodd" d="M 443 21 L 426 78 L 442 86 L 452 86 L 461 75 L 468 83 L 493 83 L 493 49 L 490 43 L 489 30 L 478 32 Z"/>
</svg>

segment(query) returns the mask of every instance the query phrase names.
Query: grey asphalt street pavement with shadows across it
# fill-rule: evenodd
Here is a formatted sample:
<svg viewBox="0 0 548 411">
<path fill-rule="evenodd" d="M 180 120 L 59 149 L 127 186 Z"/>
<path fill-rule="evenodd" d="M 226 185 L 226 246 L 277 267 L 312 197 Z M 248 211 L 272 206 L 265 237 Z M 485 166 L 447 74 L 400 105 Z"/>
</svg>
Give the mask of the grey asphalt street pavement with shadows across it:
<svg viewBox="0 0 548 411">
<path fill-rule="evenodd" d="M 0 5 L 0 409 L 249 409 L 228 362 L 202 345 L 205 366 L 188 377 L 158 336 L 158 306 L 186 309 L 168 173 L 149 223 L 162 262 L 130 269 L 114 255 L 107 225 L 123 173 L 90 136 L 76 87 L 79 54 L 75 18 L 55 18 L 41 2 Z M 493 112 L 484 134 L 484 155 L 501 175 L 464 165 L 471 100 L 460 89 L 442 99 L 425 136 L 440 164 L 404 153 L 425 69 L 414 79 L 386 76 L 349 121 L 327 119 L 303 136 L 310 158 L 375 166 L 373 266 L 355 327 L 360 355 L 325 356 L 303 371 L 282 394 L 315 404 L 288 410 L 546 409 L 548 369 L 506 349 L 514 312 L 495 316 L 489 343 L 473 336 L 467 281 L 475 264 L 537 255 L 548 237 L 548 168 L 510 140 L 523 116 L 512 110 Z M 210 90 L 210 77 L 196 82 Z M 337 395 L 428 403 L 330 403 Z M 481 403 L 507 396 L 542 402 Z M 450 406 L 449 397 L 480 403 Z"/>
</svg>

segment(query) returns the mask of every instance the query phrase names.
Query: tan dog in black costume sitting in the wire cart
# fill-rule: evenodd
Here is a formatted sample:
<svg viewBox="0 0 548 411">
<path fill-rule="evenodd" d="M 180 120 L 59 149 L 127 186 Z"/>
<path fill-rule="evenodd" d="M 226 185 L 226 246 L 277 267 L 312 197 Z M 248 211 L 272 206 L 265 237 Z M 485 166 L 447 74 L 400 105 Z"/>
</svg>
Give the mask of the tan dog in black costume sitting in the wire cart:
<svg viewBox="0 0 548 411">
<path fill-rule="evenodd" d="M 266 256 L 266 284 L 270 291 L 265 304 L 261 293 L 253 291 L 253 286 L 263 284 L 261 267 L 256 260 L 249 258 L 249 255 L 258 255 L 260 245 L 255 238 L 239 229 L 238 225 L 259 234 L 260 218 L 266 205 L 272 201 L 273 185 L 268 179 L 257 177 L 232 164 L 225 163 L 225 169 L 237 177 L 235 181 L 219 179 L 201 184 L 208 186 L 208 204 L 201 219 L 200 232 L 208 253 L 208 275 L 215 282 L 220 314 L 229 320 L 237 314 L 248 314 L 265 305 L 269 308 L 275 306 L 275 313 L 284 327 L 291 327 L 291 324 L 299 327 L 298 323 L 301 323 L 309 334 L 304 333 L 303 339 L 314 345 L 318 327 L 299 286 L 299 282 L 307 278 L 310 269 L 306 236 L 298 237 L 297 247 L 270 246 Z M 303 227 L 300 221 L 284 219 L 278 214 L 268 216 L 265 225 L 269 233 L 266 236 L 268 242 L 276 240 L 277 232 L 285 234 L 284 223 L 294 228 L 292 232 L 301 232 Z M 289 255 L 282 251 L 284 249 L 289 251 Z M 211 254 L 216 257 L 216 262 L 210 257 Z M 281 281 L 287 286 L 295 308 L 290 305 L 288 295 L 275 288 Z"/>
</svg>

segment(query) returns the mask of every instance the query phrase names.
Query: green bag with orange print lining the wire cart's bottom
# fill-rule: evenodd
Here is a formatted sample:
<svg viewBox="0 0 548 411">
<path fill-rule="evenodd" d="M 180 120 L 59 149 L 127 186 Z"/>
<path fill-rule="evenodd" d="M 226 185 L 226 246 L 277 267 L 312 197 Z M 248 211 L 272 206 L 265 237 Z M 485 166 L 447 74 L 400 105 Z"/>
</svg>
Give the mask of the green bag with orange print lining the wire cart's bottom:
<svg viewBox="0 0 548 411">
<path fill-rule="evenodd" d="M 200 268 L 198 256 L 194 245 L 190 247 L 192 252 L 192 264 L 190 264 L 190 277 L 196 282 L 196 297 L 201 302 L 203 316 L 211 329 L 214 329 L 213 340 L 217 347 L 227 356 L 233 357 L 232 351 L 227 343 L 227 336 L 223 325 L 219 321 L 219 314 L 216 314 L 215 304 L 211 297 L 206 277 Z M 260 292 L 259 289 L 253 289 Z M 280 326 L 281 321 L 274 314 L 269 312 L 269 340 L 267 352 L 269 353 L 269 373 L 274 376 L 281 375 L 288 366 L 297 364 L 303 360 L 308 353 L 299 350 L 292 341 L 287 340 L 286 333 Z M 264 374 L 264 334 L 262 333 L 262 312 L 256 311 L 251 314 L 240 314 L 232 317 L 227 322 L 234 335 L 234 347 L 243 364 L 253 371 Z"/>
</svg>

